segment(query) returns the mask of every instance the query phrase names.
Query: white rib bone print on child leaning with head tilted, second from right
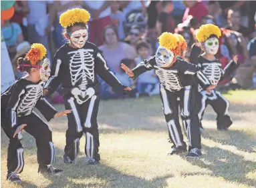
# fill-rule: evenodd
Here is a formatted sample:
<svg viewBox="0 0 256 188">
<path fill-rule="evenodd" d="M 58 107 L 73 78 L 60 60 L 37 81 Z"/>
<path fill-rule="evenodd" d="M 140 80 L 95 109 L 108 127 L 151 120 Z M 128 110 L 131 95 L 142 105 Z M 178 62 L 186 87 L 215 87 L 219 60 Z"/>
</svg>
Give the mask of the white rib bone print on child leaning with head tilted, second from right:
<svg viewBox="0 0 256 188">
<path fill-rule="evenodd" d="M 160 67 L 156 67 L 156 75 L 158 75 L 160 79 L 160 83 L 164 85 L 164 88 L 168 91 L 179 91 L 182 89 L 180 85 L 180 81 L 178 79 L 178 71 L 177 70 L 166 70 Z"/>
</svg>

